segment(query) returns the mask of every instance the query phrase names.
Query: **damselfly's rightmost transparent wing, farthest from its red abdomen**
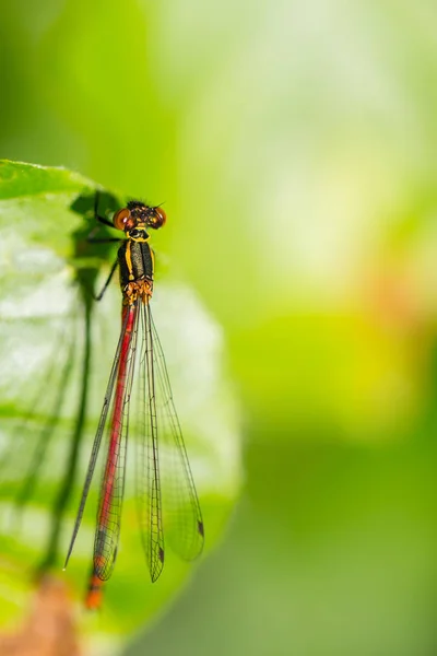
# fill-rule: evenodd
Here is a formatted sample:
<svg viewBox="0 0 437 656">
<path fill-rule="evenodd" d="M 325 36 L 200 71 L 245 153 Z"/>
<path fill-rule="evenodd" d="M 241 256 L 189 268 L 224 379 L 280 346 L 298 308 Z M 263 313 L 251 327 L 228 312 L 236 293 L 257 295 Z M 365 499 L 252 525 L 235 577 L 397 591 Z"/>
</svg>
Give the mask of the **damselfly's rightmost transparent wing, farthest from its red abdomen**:
<svg viewBox="0 0 437 656">
<path fill-rule="evenodd" d="M 196 559 L 203 549 L 204 530 L 194 481 L 173 400 L 164 352 L 150 314 L 153 364 L 158 399 L 160 434 L 165 448 L 163 468 L 165 535 L 184 560 Z"/>
</svg>

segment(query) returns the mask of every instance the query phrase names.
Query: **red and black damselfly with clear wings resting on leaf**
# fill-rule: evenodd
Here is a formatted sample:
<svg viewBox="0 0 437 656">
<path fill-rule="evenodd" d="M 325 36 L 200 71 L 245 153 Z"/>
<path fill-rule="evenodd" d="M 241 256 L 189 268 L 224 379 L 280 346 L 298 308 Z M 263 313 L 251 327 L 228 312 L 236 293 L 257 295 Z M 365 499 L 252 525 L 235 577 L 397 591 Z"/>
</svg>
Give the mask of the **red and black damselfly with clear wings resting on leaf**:
<svg viewBox="0 0 437 656">
<path fill-rule="evenodd" d="M 204 539 L 199 500 L 173 401 L 163 349 L 151 312 L 154 255 L 149 244 L 147 230 L 162 227 L 166 222 L 166 214 L 161 207 L 130 201 L 126 208 L 115 213 L 113 223 L 98 216 L 97 211 L 96 219 L 105 225 L 123 231 L 126 239 L 122 241 L 102 292 L 96 296 L 97 300 L 102 298 L 118 267 L 122 294 L 121 333 L 66 560 L 67 566 L 81 525 L 102 440 L 105 437 L 107 452 L 101 482 L 88 606 L 97 605 L 95 600 L 98 598 L 101 582 L 109 578 L 116 561 L 129 425 L 132 423 L 132 398 L 137 399 L 138 414 L 135 479 L 139 523 L 152 582 L 157 579 L 164 565 L 163 494 L 158 457 L 162 441 L 170 454 L 170 491 L 165 497 L 165 509 L 166 516 L 172 519 L 172 548 L 184 560 L 190 561 L 201 553 Z"/>
</svg>

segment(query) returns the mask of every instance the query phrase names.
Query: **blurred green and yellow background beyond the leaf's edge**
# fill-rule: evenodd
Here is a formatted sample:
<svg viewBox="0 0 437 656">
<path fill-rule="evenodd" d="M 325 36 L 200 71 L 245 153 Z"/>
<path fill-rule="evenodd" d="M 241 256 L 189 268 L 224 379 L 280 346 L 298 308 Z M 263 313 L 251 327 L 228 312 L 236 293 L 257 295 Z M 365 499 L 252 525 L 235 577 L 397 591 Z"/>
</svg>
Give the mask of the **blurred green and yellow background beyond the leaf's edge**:
<svg viewBox="0 0 437 656">
<path fill-rule="evenodd" d="M 437 652 L 436 19 L 1 4 L 1 156 L 165 201 L 241 408 L 224 539 L 125 656 Z"/>
</svg>

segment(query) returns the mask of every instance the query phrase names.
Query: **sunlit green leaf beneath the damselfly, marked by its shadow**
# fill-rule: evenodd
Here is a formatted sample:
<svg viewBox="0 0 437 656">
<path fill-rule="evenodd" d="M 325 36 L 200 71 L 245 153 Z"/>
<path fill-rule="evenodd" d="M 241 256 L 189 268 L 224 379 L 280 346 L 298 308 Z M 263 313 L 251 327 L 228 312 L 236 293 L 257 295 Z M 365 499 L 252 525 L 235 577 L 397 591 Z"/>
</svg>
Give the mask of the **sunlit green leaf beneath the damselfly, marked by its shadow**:
<svg viewBox="0 0 437 656">
<path fill-rule="evenodd" d="M 120 197 L 98 190 L 99 214 L 110 216 L 122 207 Z M 101 304 L 91 295 L 117 248 L 86 241 L 96 227 L 96 191 L 95 183 L 63 168 L 0 161 L 0 609 L 5 622 L 17 612 L 8 599 L 19 597 L 19 609 L 24 606 L 24 582 L 35 572 L 64 576 L 78 599 L 90 574 L 98 472 L 68 570 L 61 570 L 120 325 L 117 285 Z M 239 480 L 237 411 L 221 371 L 222 332 L 180 281 L 160 279 L 153 308 L 200 493 L 208 552 Z M 130 462 L 117 564 L 95 620 L 101 632 L 119 635 L 151 619 L 192 571 L 166 552 L 162 577 L 149 582 L 132 472 Z"/>
</svg>

